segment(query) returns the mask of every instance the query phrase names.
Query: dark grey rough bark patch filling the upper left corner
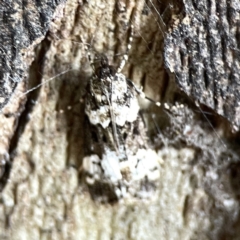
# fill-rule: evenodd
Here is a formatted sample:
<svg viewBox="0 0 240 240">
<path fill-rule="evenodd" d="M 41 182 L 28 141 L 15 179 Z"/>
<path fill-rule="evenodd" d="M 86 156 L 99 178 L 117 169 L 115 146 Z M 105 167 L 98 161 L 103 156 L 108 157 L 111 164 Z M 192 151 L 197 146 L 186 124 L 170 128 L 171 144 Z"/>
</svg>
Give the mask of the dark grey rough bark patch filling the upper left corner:
<svg viewBox="0 0 240 240">
<path fill-rule="evenodd" d="M 26 75 L 33 47 L 45 36 L 60 1 L 2 1 L 0 4 L 0 109 Z"/>
</svg>

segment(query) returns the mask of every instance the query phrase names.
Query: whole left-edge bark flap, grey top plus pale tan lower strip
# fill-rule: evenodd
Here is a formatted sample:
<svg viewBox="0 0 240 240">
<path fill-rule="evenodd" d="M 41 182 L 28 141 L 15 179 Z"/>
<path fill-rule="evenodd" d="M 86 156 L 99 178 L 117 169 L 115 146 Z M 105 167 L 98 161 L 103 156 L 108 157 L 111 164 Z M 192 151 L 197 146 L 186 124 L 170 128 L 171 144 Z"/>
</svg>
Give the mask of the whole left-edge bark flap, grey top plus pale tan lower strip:
<svg viewBox="0 0 240 240">
<path fill-rule="evenodd" d="M 59 14 L 63 3 L 64 1 L 5 1 L 0 4 L 0 189 L 5 185 L 11 168 L 9 149 L 15 144 L 13 134 L 24 109 L 25 98 L 20 97 L 20 92 L 26 90 L 28 68 L 35 57 L 34 47 L 45 37 L 54 13 Z M 14 91 L 15 98 L 10 101 Z"/>
</svg>

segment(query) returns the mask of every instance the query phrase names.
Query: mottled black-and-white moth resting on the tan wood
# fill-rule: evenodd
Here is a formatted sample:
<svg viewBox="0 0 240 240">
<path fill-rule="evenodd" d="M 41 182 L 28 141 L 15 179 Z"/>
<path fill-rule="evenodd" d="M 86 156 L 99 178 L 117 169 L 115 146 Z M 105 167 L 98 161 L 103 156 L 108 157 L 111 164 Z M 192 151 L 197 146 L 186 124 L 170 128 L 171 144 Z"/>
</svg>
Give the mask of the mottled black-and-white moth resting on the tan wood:
<svg viewBox="0 0 240 240">
<path fill-rule="evenodd" d="M 104 54 L 98 54 L 86 88 L 87 156 L 84 179 L 94 199 L 148 199 L 155 195 L 159 163 L 148 145 L 137 97 L 144 94 Z"/>
</svg>

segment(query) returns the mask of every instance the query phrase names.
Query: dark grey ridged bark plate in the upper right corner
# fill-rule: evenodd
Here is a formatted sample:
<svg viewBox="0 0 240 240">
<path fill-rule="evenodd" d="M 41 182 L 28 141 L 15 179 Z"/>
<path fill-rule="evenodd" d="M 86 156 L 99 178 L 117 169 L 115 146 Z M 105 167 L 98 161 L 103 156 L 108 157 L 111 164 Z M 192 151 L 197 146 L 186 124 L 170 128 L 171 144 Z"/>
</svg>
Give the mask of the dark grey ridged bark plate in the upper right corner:
<svg viewBox="0 0 240 240">
<path fill-rule="evenodd" d="M 184 18 L 165 41 L 166 65 L 181 90 L 239 130 L 239 1 L 185 0 L 184 5 Z"/>
</svg>

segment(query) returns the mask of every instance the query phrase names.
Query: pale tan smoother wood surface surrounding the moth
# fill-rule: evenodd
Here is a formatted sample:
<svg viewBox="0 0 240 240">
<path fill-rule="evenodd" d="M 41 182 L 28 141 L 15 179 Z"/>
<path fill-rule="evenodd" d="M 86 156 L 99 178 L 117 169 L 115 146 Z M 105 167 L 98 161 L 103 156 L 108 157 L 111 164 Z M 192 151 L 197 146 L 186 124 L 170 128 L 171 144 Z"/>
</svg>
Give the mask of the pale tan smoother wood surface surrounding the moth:
<svg viewBox="0 0 240 240">
<path fill-rule="evenodd" d="M 154 6 L 163 13 L 168 4 Z M 149 97 L 181 104 L 167 113 L 142 104 L 160 158 L 157 199 L 103 205 L 79 180 L 82 96 L 92 73 L 85 46 L 118 66 L 129 23 L 135 33 L 123 73 Z M 0 195 L 1 239 L 239 239 L 237 136 L 227 135 L 227 123 L 214 117 L 210 126 L 178 92 L 164 70 L 161 25 L 151 2 L 67 1 L 36 49 L 30 88 L 62 75 L 28 94 L 14 136 L 1 138 L 3 159 L 12 163 Z M 18 92 L 12 99 L 21 105 Z M 14 128 L 10 120 L 1 136 Z"/>
</svg>

